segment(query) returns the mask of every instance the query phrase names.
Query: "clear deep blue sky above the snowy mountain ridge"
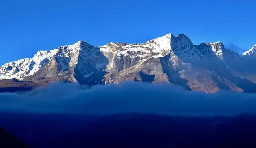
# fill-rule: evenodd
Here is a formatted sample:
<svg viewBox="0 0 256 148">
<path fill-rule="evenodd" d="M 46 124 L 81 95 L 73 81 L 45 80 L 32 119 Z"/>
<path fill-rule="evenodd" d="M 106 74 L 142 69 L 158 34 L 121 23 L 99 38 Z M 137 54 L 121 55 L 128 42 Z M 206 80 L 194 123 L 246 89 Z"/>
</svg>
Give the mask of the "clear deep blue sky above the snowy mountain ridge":
<svg viewBox="0 0 256 148">
<path fill-rule="evenodd" d="M 256 44 L 255 6 L 253 0 L 1 0 L 0 65 L 80 39 L 98 46 L 168 33 L 184 33 L 196 45 L 222 41 L 249 49 Z"/>
</svg>

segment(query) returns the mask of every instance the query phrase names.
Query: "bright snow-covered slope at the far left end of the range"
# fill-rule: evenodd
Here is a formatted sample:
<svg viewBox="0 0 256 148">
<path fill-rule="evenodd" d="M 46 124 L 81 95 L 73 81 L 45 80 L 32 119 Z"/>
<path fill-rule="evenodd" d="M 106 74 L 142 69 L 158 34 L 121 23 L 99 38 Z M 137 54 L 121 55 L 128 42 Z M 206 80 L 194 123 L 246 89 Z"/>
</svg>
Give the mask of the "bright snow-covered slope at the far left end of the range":
<svg viewBox="0 0 256 148">
<path fill-rule="evenodd" d="M 24 58 L 4 64 L 0 67 L 0 79 L 16 78 L 22 80 L 23 77 L 33 75 L 52 59 L 57 50 L 38 51 L 33 58 Z"/>
</svg>

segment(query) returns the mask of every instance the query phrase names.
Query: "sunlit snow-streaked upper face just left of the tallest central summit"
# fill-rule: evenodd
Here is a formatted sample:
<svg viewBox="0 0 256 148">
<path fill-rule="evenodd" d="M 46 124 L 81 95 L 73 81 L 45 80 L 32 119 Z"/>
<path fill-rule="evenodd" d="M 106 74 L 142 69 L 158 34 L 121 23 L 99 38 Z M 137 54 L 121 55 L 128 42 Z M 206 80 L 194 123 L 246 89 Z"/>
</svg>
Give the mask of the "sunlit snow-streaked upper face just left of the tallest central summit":
<svg viewBox="0 0 256 148">
<path fill-rule="evenodd" d="M 118 72 L 141 63 L 149 57 L 164 57 L 171 51 L 171 37 L 172 34 L 166 34 L 145 43 L 108 43 L 98 48 L 109 60 L 106 70 Z"/>
</svg>

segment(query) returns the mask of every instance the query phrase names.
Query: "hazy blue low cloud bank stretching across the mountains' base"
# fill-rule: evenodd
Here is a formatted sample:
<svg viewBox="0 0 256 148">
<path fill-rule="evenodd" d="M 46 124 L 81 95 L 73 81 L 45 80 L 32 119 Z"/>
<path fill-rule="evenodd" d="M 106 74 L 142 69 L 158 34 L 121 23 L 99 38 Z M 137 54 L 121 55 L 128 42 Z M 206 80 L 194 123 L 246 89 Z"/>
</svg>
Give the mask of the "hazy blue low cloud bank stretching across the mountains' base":
<svg viewBox="0 0 256 148">
<path fill-rule="evenodd" d="M 0 111 L 237 115 L 256 113 L 256 94 L 233 91 L 207 94 L 185 91 L 167 83 L 125 82 L 86 90 L 74 83 L 54 83 L 22 94 L 0 93 Z"/>
</svg>

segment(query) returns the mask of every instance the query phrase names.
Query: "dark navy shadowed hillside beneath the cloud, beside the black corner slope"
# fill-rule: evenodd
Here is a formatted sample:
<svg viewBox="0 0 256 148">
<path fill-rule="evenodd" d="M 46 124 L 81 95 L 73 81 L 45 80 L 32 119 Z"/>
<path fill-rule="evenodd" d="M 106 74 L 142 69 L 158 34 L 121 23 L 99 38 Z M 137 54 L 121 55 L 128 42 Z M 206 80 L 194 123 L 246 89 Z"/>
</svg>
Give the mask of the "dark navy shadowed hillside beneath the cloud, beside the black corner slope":
<svg viewBox="0 0 256 148">
<path fill-rule="evenodd" d="M 15 126 L 12 134 L 23 136 L 22 140 L 33 148 L 256 148 L 256 116 L 252 114 L 93 116 L 26 115 L 11 126 L 6 116 L 4 124 L 11 129 Z"/>
</svg>

